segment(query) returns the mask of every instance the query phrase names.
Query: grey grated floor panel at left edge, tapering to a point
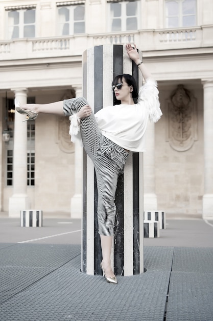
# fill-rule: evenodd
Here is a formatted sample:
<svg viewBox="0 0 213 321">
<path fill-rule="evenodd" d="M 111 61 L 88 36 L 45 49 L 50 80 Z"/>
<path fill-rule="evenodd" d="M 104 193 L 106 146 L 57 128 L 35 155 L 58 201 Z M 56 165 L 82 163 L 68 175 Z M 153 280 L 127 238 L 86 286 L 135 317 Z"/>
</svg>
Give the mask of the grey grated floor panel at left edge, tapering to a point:
<svg viewBox="0 0 213 321">
<path fill-rule="evenodd" d="M 0 248 L 0 303 L 80 253 L 80 245 L 14 244 Z"/>
</svg>

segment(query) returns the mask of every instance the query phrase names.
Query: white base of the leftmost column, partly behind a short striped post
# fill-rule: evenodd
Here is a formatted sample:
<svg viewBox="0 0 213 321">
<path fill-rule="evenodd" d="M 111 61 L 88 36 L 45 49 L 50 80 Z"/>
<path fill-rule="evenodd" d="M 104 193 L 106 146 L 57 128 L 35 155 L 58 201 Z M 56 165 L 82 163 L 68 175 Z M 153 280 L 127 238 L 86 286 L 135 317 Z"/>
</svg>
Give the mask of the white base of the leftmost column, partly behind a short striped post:
<svg viewBox="0 0 213 321">
<path fill-rule="evenodd" d="M 16 194 L 9 198 L 9 217 L 20 217 L 20 211 L 30 209 L 30 198 L 25 194 Z"/>
</svg>

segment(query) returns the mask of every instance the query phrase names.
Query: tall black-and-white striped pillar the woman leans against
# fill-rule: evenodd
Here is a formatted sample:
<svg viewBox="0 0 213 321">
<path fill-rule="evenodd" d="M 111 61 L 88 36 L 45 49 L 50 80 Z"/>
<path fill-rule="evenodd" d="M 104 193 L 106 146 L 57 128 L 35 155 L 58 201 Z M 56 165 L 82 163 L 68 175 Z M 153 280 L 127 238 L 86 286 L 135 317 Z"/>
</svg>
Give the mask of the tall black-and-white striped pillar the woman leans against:
<svg viewBox="0 0 213 321">
<path fill-rule="evenodd" d="M 141 55 L 141 53 L 139 52 Z M 142 55 L 141 55 L 142 56 Z M 94 113 L 113 105 L 111 83 L 122 73 L 132 74 L 141 86 L 142 76 L 123 45 L 102 45 L 83 53 L 83 96 Z M 111 262 L 116 275 L 144 272 L 143 153 L 130 153 L 115 195 L 116 217 Z M 96 174 L 83 154 L 82 272 L 101 275 L 102 260 L 97 219 Z"/>
</svg>

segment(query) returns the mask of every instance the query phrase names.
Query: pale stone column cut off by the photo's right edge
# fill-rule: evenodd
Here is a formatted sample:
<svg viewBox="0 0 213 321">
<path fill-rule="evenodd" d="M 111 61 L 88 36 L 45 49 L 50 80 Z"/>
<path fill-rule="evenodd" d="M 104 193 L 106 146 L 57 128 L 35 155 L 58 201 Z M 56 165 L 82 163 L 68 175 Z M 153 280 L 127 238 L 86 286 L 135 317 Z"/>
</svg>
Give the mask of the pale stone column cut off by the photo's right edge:
<svg viewBox="0 0 213 321">
<path fill-rule="evenodd" d="M 213 79 L 203 82 L 204 195 L 203 218 L 213 219 Z"/>
</svg>

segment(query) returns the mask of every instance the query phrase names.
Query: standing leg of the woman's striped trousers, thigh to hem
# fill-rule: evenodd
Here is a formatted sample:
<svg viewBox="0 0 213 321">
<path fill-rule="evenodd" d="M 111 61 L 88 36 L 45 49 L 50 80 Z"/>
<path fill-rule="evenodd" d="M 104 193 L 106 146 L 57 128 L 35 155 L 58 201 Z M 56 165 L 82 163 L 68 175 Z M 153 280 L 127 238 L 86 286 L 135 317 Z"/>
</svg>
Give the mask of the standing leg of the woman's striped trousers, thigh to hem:
<svg viewBox="0 0 213 321">
<path fill-rule="evenodd" d="M 111 160 L 103 155 L 94 162 L 98 189 L 98 224 L 99 234 L 113 236 L 116 207 L 114 204 L 117 188 L 117 177 L 120 170 L 115 168 Z"/>
</svg>

